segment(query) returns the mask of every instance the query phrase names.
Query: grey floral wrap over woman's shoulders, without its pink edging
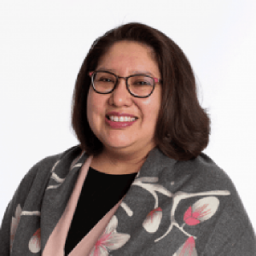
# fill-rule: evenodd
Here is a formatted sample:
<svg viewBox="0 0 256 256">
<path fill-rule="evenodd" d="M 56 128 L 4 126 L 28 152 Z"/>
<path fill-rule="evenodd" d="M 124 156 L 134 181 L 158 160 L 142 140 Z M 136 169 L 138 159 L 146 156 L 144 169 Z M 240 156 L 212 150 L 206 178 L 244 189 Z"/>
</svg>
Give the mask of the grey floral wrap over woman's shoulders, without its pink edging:
<svg viewBox="0 0 256 256">
<path fill-rule="evenodd" d="M 80 154 L 70 148 L 26 174 L 3 217 L 1 256 L 45 254 L 89 159 Z M 206 154 L 177 161 L 154 148 L 84 255 L 254 256 L 256 240 L 233 183 Z"/>
</svg>

